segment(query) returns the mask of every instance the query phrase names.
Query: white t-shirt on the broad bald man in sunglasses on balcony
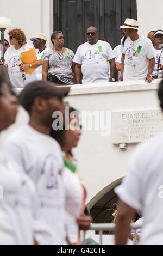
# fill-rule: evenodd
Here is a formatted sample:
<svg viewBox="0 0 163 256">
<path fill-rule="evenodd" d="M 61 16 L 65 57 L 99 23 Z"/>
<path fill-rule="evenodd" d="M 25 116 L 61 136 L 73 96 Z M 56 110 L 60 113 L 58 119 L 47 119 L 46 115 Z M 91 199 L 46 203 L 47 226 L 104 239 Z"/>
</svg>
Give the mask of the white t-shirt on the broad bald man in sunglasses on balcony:
<svg viewBox="0 0 163 256">
<path fill-rule="evenodd" d="M 108 42 L 98 40 L 94 45 L 80 45 L 73 62 L 82 64 L 82 83 L 109 82 L 108 60 L 115 58 Z"/>
</svg>

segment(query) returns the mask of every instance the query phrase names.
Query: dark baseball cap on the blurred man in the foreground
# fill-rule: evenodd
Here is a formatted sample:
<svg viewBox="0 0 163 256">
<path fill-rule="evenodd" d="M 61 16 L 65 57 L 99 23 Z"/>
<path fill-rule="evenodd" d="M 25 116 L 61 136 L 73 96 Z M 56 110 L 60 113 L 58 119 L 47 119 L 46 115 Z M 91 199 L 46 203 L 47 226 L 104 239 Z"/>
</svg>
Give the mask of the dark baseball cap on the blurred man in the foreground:
<svg viewBox="0 0 163 256">
<path fill-rule="evenodd" d="M 41 97 L 42 99 L 51 99 L 52 97 L 65 97 L 70 92 L 70 87 L 67 86 L 54 86 L 52 83 L 46 81 L 34 81 L 27 84 L 22 90 L 19 96 L 20 105 L 26 111 L 30 111 L 30 107 L 33 105 L 36 97 Z"/>
</svg>

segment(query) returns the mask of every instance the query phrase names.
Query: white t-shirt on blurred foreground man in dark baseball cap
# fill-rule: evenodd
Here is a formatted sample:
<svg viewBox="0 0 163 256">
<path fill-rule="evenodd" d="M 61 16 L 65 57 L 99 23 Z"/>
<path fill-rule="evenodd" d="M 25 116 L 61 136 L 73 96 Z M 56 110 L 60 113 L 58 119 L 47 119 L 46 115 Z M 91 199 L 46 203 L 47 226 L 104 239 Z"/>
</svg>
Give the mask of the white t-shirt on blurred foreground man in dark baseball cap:
<svg viewBox="0 0 163 256">
<path fill-rule="evenodd" d="M 65 240 L 64 163 L 57 141 L 24 125 L 11 133 L 8 150 L 34 181 L 34 232 L 40 245 L 62 245 Z"/>
</svg>

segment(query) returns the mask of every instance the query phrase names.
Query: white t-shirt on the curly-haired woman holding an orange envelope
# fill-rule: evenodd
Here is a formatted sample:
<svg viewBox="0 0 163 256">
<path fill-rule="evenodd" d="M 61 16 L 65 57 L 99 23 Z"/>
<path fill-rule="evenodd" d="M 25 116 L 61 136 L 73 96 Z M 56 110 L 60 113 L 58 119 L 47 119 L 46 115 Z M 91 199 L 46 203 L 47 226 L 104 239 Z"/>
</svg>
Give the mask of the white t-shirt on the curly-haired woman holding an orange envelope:
<svg viewBox="0 0 163 256">
<path fill-rule="evenodd" d="M 11 46 L 5 52 L 5 64 L 8 65 L 8 73 L 12 87 L 14 88 L 23 88 L 27 83 L 37 80 L 36 70 L 32 75 L 26 74 L 26 80 L 23 81 L 22 72 L 18 65 L 18 59 L 22 52 L 28 51 L 30 48 L 33 48 L 31 45 L 23 45 L 20 49 L 16 50 L 15 46 Z"/>
</svg>

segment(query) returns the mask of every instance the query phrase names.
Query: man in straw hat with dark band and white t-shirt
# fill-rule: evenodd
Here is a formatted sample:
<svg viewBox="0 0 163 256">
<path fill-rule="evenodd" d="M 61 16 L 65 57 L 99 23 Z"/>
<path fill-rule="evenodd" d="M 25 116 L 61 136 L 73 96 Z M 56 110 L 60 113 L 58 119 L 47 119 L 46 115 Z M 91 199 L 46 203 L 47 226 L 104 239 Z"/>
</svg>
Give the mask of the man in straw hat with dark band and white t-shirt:
<svg viewBox="0 0 163 256">
<path fill-rule="evenodd" d="M 121 40 L 122 69 L 120 81 L 142 80 L 151 83 L 155 65 L 154 50 L 151 40 L 138 35 L 139 23 L 126 19 L 120 28 L 126 33 L 126 40 Z"/>
</svg>

